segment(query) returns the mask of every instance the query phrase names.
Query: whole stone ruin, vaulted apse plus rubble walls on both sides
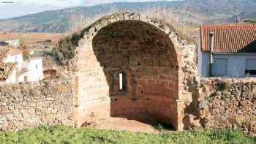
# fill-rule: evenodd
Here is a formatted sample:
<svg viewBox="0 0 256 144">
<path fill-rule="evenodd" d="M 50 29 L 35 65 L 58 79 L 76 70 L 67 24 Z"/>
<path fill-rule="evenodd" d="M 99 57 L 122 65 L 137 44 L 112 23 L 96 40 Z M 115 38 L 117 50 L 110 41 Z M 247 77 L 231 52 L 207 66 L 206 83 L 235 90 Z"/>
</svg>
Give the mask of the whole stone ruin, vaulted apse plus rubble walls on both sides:
<svg viewBox="0 0 256 144">
<path fill-rule="evenodd" d="M 162 20 L 115 13 L 83 32 L 67 72 L 60 70 L 67 80 L 0 85 L 0 130 L 127 118 L 256 134 L 256 80 L 200 78 L 195 45 Z"/>
</svg>

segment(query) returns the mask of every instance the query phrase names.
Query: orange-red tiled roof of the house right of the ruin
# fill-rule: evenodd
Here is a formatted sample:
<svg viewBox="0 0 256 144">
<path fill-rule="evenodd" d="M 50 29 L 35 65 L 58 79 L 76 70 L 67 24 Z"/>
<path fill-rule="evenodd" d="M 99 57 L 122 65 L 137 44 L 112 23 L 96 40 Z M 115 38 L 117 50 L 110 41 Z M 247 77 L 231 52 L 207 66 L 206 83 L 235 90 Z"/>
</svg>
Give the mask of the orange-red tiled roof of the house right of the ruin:
<svg viewBox="0 0 256 144">
<path fill-rule="evenodd" d="M 215 24 L 200 26 L 201 50 L 209 51 L 214 32 L 213 53 L 256 53 L 255 24 Z"/>
</svg>

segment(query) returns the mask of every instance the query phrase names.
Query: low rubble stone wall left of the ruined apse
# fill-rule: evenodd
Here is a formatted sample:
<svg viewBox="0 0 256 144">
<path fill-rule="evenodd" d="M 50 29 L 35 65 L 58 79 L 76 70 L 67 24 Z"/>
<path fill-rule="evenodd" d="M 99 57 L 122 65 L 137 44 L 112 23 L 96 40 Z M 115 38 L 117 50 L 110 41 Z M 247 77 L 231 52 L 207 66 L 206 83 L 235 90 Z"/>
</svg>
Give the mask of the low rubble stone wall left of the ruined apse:
<svg viewBox="0 0 256 144">
<path fill-rule="evenodd" d="M 39 125 L 73 126 L 72 87 L 66 82 L 0 85 L 0 131 Z"/>
</svg>

